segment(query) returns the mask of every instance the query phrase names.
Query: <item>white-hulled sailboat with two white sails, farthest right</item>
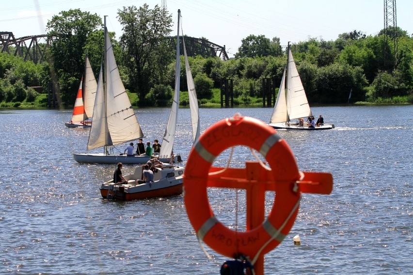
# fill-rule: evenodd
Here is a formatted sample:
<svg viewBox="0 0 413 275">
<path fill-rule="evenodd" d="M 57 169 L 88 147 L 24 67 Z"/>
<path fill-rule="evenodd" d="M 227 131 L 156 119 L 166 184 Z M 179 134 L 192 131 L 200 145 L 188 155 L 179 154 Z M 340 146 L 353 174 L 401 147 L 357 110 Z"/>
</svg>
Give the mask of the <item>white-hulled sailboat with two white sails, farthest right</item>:
<svg viewBox="0 0 413 275">
<path fill-rule="evenodd" d="M 307 123 L 291 122 L 294 119 L 313 118 L 304 87 L 288 42 L 287 65 L 281 79 L 280 90 L 272 109 L 269 125 L 274 129 L 289 130 L 327 130 L 334 124 L 323 123 L 317 127 L 308 127 Z"/>
</svg>

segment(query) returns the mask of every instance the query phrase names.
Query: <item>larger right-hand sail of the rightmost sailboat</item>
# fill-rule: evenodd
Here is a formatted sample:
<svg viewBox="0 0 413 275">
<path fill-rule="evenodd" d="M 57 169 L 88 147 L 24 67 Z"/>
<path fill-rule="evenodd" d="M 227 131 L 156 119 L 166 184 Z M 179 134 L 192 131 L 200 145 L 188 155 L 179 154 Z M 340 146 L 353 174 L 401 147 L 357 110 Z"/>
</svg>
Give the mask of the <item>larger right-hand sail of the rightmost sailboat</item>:
<svg viewBox="0 0 413 275">
<path fill-rule="evenodd" d="M 287 112 L 289 120 L 312 116 L 291 49 L 288 48 Z"/>
</svg>

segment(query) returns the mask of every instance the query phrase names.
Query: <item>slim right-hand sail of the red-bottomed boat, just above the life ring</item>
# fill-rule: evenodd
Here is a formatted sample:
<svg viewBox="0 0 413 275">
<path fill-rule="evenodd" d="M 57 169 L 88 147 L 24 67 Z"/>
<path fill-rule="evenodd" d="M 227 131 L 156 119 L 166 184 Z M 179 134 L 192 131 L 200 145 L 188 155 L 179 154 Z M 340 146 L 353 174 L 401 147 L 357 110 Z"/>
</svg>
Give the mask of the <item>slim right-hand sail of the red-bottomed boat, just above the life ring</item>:
<svg viewBox="0 0 413 275">
<path fill-rule="evenodd" d="M 191 67 L 188 62 L 187 50 L 185 47 L 185 39 L 182 36 L 182 43 L 184 45 L 184 57 L 185 57 L 185 69 L 187 73 L 188 95 L 191 110 L 191 123 L 192 123 L 192 139 L 195 142 L 201 134 L 199 123 L 199 108 L 198 98 L 196 96 L 195 85 L 193 84 L 193 78 L 191 73 Z"/>
</svg>

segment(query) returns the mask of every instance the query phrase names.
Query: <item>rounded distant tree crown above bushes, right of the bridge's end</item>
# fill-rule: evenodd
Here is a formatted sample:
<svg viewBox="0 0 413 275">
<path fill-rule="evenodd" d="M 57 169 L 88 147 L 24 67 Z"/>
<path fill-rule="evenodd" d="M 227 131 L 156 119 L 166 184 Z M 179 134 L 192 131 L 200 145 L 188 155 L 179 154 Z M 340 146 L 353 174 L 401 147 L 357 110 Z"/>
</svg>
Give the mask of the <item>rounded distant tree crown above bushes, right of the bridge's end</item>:
<svg viewBox="0 0 413 275">
<path fill-rule="evenodd" d="M 271 43 L 269 38 L 265 35 L 250 34 L 246 38 L 241 40 L 241 46 L 238 48 L 238 52 L 235 54 L 236 58 L 239 57 L 260 57 L 277 54 L 277 40 Z"/>
</svg>

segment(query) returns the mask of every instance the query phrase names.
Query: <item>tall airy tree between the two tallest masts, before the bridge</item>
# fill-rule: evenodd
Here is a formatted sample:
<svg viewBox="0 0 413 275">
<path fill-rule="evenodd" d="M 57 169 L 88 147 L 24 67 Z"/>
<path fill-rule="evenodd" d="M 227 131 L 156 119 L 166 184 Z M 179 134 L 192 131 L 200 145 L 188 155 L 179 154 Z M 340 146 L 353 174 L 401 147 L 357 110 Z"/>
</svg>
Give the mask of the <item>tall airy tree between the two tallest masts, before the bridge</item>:
<svg viewBox="0 0 413 275">
<path fill-rule="evenodd" d="M 167 81 L 168 64 L 175 52 L 167 39 L 172 15 L 158 5 L 149 9 L 144 4 L 139 9 L 130 6 L 118 10 L 118 18 L 124 31 L 120 45 L 124 48 L 123 61 L 129 79 L 127 88 L 139 92 L 139 100 L 144 100 L 151 87 Z"/>
</svg>

